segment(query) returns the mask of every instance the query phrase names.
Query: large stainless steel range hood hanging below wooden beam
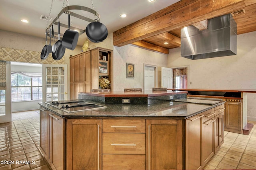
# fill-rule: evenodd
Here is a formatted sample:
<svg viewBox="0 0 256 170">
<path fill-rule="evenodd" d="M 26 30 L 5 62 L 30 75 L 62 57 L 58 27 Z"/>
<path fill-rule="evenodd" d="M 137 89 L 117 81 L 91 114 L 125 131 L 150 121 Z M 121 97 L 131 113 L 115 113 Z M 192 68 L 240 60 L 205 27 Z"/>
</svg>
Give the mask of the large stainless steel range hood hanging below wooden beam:
<svg viewBox="0 0 256 170">
<path fill-rule="evenodd" d="M 236 21 L 231 14 L 208 20 L 208 29 L 193 25 L 181 29 L 181 56 L 207 59 L 236 55 Z"/>
</svg>

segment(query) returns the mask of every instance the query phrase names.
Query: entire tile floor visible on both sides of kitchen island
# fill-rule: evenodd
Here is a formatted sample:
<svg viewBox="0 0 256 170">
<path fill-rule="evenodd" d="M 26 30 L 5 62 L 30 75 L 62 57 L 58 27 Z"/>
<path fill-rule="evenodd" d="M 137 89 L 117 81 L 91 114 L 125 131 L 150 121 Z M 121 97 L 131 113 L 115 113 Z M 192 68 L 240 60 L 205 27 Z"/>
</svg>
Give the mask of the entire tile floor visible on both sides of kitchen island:
<svg viewBox="0 0 256 170">
<path fill-rule="evenodd" d="M 256 122 L 250 123 L 249 135 L 225 131 L 224 144 L 204 169 L 256 169 Z M 12 122 L 0 124 L 0 160 L 14 160 L 0 170 L 51 170 L 39 149 L 39 132 L 38 110 L 12 113 Z"/>
</svg>

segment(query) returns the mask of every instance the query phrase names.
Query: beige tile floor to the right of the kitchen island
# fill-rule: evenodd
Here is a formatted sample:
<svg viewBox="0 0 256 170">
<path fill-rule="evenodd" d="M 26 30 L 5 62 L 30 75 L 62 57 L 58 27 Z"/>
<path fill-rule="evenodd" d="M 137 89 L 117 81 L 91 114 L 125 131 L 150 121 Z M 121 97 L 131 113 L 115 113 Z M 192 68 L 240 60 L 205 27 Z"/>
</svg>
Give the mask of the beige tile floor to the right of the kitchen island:
<svg viewBox="0 0 256 170">
<path fill-rule="evenodd" d="M 205 170 L 256 170 L 256 122 L 249 135 L 224 131 L 224 143 L 204 167 Z"/>
</svg>

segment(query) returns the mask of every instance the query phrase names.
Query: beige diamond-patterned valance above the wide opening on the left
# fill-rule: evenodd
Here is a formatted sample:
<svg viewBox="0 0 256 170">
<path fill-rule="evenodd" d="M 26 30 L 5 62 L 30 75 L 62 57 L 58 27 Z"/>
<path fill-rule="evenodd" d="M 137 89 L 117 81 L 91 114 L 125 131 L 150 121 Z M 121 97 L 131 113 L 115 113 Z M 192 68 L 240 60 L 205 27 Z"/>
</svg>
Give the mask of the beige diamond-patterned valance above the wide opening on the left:
<svg viewBox="0 0 256 170">
<path fill-rule="evenodd" d="M 50 53 L 47 59 L 41 60 L 41 52 L 38 51 L 0 47 L 0 61 L 16 61 L 38 64 L 64 64 L 64 57 L 60 60 L 54 60 L 52 59 L 52 53 Z"/>
</svg>

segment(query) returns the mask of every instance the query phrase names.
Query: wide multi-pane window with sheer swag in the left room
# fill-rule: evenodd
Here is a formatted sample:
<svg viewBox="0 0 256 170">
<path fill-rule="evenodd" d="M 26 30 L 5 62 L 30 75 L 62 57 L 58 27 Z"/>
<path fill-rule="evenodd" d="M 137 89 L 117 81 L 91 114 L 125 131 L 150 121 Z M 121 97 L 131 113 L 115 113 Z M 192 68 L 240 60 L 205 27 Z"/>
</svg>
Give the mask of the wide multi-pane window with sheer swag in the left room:
<svg viewBox="0 0 256 170">
<path fill-rule="evenodd" d="M 13 72 L 11 81 L 12 102 L 42 100 L 42 76 L 30 77 Z"/>
</svg>

